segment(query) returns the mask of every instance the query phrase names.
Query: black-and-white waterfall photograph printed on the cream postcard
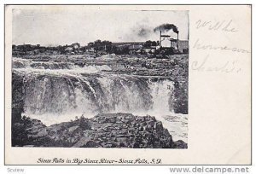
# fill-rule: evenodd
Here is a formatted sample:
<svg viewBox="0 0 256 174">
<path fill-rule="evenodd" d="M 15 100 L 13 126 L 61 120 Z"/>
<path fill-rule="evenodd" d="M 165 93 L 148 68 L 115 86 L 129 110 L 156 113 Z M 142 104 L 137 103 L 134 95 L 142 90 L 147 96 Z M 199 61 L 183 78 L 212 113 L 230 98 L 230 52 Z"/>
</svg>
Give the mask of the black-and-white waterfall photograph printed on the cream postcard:
<svg viewBox="0 0 256 174">
<path fill-rule="evenodd" d="M 189 11 L 12 10 L 12 147 L 188 148 Z"/>
</svg>

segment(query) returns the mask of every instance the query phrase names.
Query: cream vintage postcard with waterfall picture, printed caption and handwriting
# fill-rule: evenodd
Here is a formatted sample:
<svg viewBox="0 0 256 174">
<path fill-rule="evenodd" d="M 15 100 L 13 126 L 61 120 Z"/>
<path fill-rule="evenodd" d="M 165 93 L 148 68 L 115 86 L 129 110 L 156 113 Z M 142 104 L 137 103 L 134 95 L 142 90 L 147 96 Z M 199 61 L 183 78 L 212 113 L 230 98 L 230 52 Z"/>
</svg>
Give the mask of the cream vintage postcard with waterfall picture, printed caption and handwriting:
<svg viewBox="0 0 256 174">
<path fill-rule="evenodd" d="M 250 165 L 250 5 L 6 5 L 6 165 Z"/>
</svg>

